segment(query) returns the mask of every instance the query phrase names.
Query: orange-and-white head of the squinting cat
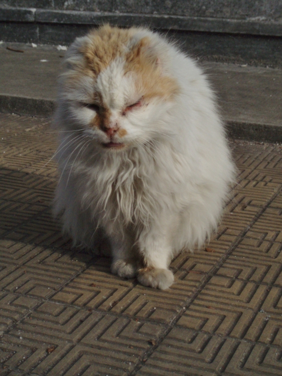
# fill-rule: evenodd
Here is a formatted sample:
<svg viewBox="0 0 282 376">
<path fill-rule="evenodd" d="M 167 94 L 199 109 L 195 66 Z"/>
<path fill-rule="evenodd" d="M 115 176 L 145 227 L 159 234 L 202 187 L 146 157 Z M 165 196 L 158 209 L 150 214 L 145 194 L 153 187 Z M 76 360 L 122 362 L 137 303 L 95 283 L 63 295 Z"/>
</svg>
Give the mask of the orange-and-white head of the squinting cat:
<svg viewBox="0 0 282 376">
<path fill-rule="evenodd" d="M 78 38 L 65 59 L 59 121 L 99 147 L 123 150 L 165 131 L 179 92 L 165 40 L 146 29 L 103 26 Z"/>
</svg>

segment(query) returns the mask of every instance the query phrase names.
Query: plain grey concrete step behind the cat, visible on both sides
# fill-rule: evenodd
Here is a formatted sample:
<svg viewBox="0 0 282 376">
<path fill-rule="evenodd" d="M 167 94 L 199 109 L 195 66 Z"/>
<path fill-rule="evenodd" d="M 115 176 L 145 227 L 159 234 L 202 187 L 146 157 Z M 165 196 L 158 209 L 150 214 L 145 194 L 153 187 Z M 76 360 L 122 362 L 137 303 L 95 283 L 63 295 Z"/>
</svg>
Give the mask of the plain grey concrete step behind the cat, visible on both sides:
<svg viewBox="0 0 282 376">
<path fill-rule="evenodd" d="M 24 53 L 7 50 L 7 46 Z M 64 51 L 54 46 L 0 45 L 0 111 L 51 115 L 63 56 Z M 218 93 L 232 137 L 282 141 L 282 70 L 201 64 Z"/>
</svg>

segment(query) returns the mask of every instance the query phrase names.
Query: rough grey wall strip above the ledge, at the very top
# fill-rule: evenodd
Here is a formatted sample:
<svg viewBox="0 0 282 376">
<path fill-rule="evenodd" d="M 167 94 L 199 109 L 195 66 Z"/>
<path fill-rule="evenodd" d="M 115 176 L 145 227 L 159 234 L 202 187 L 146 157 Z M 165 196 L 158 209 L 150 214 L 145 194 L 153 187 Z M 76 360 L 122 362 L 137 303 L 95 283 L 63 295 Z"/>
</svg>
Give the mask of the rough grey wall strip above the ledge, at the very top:
<svg viewBox="0 0 282 376">
<path fill-rule="evenodd" d="M 282 21 L 281 0 L 1 0 L 0 6 Z"/>
</svg>

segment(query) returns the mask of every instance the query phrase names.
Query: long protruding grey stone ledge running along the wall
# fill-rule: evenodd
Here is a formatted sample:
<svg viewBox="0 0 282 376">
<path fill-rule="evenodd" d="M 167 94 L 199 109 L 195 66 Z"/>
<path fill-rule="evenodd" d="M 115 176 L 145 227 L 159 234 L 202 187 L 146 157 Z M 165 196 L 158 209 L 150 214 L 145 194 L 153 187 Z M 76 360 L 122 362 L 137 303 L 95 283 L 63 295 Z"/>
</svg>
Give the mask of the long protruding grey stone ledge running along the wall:
<svg viewBox="0 0 282 376">
<path fill-rule="evenodd" d="M 146 25 L 153 29 L 165 30 L 282 36 L 281 22 L 253 19 L 235 20 L 134 13 L 56 11 L 11 7 L 0 8 L 0 21 L 66 25 L 101 25 L 110 23 L 123 27 Z"/>
</svg>

